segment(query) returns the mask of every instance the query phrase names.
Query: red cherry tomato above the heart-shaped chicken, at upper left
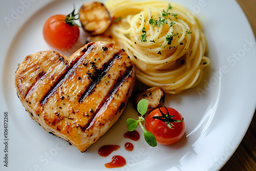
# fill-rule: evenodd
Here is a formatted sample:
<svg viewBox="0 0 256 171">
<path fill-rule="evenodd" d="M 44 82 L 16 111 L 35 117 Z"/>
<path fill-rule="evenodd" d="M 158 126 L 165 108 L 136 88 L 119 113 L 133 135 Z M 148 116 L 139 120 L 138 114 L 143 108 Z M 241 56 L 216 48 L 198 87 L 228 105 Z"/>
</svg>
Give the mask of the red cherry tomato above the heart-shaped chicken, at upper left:
<svg viewBox="0 0 256 171">
<path fill-rule="evenodd" d="M 74 11 L 69 15 L 53 15 L 49 17 L 43 28 L 46 42 L 53 48 L 67 50 L 75 45 L 79 38 L 79 27 L 75 25 Z"/>
</svg>

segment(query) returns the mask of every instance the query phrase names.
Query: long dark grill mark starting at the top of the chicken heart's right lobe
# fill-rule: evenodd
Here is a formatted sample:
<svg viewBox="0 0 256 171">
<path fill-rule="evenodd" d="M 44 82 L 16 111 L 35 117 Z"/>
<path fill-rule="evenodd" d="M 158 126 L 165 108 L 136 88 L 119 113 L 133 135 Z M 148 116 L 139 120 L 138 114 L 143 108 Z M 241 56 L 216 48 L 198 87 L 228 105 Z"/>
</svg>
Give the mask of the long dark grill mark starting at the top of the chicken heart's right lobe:
<svg viewBox="0 0 256 171">
<path fill-rule="evenodd" d="M 84 48 L 83 50 L 81 50 L 82 54 L 77 56 L 75 58 L 75 60 L 73 60 L 69 66 L 67 66 L 65 68 L 66 72 L 65 74 L 61 75 L 58 80 L 56 81 L 56 83 L 52 86 L 52 88 L 49 90 L 49 92 L 46 93 L 46 95 L 44 96 L 44 98 L 42 98 L 41 100 L 41 105 L 45 105 L 48 98 L 50 98 L 51 96 L 53 96 L 56 93 L 56 90 L 61 86 L 62 83 L 66 82 L 67 79 L 72 75 L 72 73 L 74 73 L 74 71 L 76 70 L 76 68 L 83 63 L 84 58 L 86 58 L 87 54 L 90 53 L 92 51 L 92 49 L 94 48 L 92 46 L 93 44 L 90 44 L 87 46 L 87 48 Z"/>
</svg>

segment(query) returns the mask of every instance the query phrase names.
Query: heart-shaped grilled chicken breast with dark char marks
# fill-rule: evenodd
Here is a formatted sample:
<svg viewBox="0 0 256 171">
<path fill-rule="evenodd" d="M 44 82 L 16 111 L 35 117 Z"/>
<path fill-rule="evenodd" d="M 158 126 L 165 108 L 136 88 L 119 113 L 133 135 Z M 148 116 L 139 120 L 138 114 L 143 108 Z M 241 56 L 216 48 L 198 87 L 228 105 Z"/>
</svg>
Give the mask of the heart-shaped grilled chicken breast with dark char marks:
<svg viewBox="0 0 256 171">
<path fill-rule="evenodd" d="M 70 57 L 54 51 L 28 55 L 15 75 L 31 118 L 81 152 L 118 120 L 134 84 L 129 56 L 106 41 L 90 42 Z"/>
</svg>

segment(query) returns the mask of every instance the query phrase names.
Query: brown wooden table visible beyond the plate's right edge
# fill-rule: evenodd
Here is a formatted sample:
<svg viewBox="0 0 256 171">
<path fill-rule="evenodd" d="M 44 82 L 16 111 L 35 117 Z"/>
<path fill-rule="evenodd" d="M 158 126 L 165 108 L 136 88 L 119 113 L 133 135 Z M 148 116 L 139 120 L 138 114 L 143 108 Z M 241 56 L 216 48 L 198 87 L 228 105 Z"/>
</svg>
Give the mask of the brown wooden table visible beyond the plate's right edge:
<svg viewBox="0 0 256 171">
<path fill-rule="evenodd" d="M 256 0 L 237 0 L 244 10 L 256 36 Z M 256 57 L 256 56 L 255 56 Z M 256 112 L 236 152 L 222 167 L 221 171 L 256 170 Z"/>
</svg>

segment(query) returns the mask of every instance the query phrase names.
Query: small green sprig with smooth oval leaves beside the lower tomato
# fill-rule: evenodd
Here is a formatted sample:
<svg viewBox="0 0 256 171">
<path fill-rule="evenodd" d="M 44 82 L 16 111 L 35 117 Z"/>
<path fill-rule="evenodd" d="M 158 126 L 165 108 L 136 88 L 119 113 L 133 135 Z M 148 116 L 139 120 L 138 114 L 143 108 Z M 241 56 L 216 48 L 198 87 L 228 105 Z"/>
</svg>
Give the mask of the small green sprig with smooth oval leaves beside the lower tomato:
<svg viewBox="0 0 256 171">
<path fill-rule="evenodd" d="M 150 145 L 150 146 L 157 146 L 157 140 L 155 138 L 155 136 L 146 131 L 145 128 L 142 126 L 141 121 L 145 120 L 143 118 L 143 115 L 146 113 L 147 111 L 147 106 L 148 106 L 148 101 L 146 99 L 142 99 L 139 101 L 138 105 L 137 105 L 137 110 L 138 112 L 141 114 L 141 116 L 139 116 L 138 120 L 129 118 L 126 120 L 126 125 L 129 131 L 134 131 L 136 129 L 136 127 L 138 126 L 138 123 L 141 127 L 141 129 L 144 132 L 144 139 L 145 141 Z"/>
</svg>

